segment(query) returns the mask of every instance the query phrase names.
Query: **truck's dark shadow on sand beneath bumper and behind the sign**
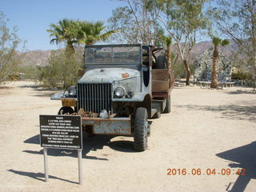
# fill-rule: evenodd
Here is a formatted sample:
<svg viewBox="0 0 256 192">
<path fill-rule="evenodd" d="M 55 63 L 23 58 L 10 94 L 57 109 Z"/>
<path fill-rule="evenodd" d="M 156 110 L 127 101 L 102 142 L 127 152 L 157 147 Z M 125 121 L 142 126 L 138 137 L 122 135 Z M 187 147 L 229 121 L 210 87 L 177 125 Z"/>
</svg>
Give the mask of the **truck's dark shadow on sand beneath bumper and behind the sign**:
<svg viewBox="0 0 256 192">
<path fill-rule="evenodd" d="M 110 142 L 111 138 L 116 137 L 115 135 L 94 135 L 93 137 L 88 137 L 87 135 L 83 136 L 82 139 L 82 158 L 94 159 L 94 160 L 103 160 L 108 161 L 108 158 L 98 158 L 94 156 L 88 156 L 91 150 L 102 150 L 104 146 L 109 146 L 113 150 L 118 150 L 126 153 L 136 153 L 134 150 L 133 142 L 130 141 L 114 141 Z M 40 145 L 39 134 L 35 135 L 32 138 L 26 139 L 25 143 L 38 144 Z M 42 150 L 23 150 L 25 153 L 29 154 L 42 154 Z M 64 149 L 48 149 L 48 155 L 50 156 L 70 156 L 77 158 L 77 150 L 64 150 Z"/>
</svg>

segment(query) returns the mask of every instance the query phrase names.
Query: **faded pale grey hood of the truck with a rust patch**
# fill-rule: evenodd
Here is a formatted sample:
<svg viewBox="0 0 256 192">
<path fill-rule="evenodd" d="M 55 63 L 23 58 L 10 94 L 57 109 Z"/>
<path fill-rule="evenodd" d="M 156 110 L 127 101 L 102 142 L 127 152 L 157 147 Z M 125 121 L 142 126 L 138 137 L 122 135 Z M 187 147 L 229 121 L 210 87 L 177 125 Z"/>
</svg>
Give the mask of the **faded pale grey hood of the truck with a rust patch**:
<svg viewBox="0 0 256 192">
<path fill-rule="evenodd" d="M 127 68 L 102 68 L 87 70 L 78 83 L 112 83 L 136 77 L 140 77 L 140 72 L 138 70 Z"/>
</svg>

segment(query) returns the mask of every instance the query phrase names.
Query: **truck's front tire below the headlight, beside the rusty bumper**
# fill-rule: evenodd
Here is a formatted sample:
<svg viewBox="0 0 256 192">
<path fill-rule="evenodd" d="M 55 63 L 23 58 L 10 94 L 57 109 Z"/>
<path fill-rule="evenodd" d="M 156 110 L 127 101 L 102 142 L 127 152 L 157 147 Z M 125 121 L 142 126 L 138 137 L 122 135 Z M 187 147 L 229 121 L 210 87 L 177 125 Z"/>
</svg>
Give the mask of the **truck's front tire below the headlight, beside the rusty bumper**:
<svg viewBox="0 0 256 192">
<path fill-rule="evenodd" d="M 134 149 L 144 151 L 147 148 L 147 110 L 144 107 L 138 107 L 136 110 L 134 126 Z"/>
</svg>

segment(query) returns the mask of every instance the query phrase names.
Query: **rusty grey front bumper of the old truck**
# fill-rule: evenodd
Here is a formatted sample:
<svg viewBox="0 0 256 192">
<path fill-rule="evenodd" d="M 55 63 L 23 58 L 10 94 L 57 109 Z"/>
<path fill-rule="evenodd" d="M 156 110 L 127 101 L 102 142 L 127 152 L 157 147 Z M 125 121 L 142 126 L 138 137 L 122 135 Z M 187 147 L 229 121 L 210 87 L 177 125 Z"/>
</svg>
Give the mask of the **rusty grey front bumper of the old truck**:
<svg viewBox="0 0 256 192">
<path fill-rule="evenodd" d="M 130 118 L 82 118 L 83 126 L 93 126 L 94 134 L 131 134 Z"/>
</svg>

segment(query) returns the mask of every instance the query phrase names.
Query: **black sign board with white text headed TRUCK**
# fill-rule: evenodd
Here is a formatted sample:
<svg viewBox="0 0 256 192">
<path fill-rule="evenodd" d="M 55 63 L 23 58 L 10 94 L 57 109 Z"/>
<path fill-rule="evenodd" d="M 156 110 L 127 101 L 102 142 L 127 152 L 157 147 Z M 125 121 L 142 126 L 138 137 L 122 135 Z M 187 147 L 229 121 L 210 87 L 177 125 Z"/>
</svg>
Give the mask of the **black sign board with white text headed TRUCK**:
<svg viewBox="0 0 256 192">
<path fill-rule="evenodd" d="M 82 150 L 81 116 L 40 115 L 39 119 L 42 147 Z"/>
</svg>

